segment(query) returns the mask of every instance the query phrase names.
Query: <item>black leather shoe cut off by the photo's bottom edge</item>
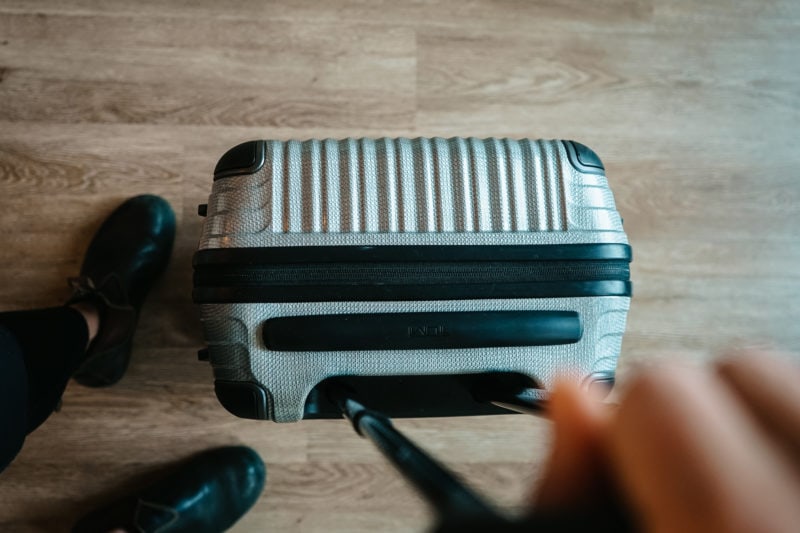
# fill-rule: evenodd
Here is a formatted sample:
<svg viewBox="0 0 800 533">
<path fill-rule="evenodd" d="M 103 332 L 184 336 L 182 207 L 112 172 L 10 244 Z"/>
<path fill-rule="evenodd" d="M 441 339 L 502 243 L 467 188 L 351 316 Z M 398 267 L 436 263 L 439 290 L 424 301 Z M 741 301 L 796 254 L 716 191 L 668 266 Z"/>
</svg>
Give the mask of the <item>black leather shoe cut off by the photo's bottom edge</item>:
<svg viewBox="0 0 800 533">
<path fill-rule="evenodd" d="M 225 531 L 258 500 L 266 469 L 245 446 L 203 452 L 171 476 L 81 518 L 73 533 Z"/>
</svg>

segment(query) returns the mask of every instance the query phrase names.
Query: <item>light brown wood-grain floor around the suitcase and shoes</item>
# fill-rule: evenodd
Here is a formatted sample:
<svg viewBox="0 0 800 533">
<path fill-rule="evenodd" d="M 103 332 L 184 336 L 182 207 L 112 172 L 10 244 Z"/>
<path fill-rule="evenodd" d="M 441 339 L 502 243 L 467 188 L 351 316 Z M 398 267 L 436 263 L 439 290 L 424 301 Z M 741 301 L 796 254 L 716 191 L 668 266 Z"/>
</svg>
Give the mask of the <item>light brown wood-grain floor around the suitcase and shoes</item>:
<svg viewBox="0 0 800 533">
<path fill-rule="evenodd" d="M 341 421 L 227 414 L 190 301 L 211 171 L 253 138 L 570 138 L 603 157 L 634 248 L 620 374 L 730 345 L 800 351 L 800 2 L 0 0 L 0 309 L 55 305 L 122 199 L 178 242 L 129 373 L 71 384 L 0 475 L 0 530 L 65 531 L 186 455 L 245 443 L 236 531 L 417 531 L 430 515 Z M 398 425 L 515 508 L 547 452 L 525 417 Z"/>
</svg>

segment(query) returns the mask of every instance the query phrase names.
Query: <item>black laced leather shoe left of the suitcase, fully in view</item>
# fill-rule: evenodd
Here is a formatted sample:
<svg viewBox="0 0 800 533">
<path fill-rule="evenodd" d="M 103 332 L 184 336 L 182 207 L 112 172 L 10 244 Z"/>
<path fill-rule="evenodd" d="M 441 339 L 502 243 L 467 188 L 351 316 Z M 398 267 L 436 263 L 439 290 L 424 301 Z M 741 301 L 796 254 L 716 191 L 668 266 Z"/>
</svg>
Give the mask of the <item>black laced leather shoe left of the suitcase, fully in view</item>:
<svg viewBox="0 0 800 533">
<path fill-rule="evenodd" d="M 67 304 L 90 302 L 100 330 L 74 374 L 89 387 L 113 385 L 128 368 L 136 322 L 150 287 L 164 271 L 175 240 L 175 213 L 158 196 L 136 196 L 120 205 L 97 231 L 81 274 L 70 279 Z"/>
</svg>

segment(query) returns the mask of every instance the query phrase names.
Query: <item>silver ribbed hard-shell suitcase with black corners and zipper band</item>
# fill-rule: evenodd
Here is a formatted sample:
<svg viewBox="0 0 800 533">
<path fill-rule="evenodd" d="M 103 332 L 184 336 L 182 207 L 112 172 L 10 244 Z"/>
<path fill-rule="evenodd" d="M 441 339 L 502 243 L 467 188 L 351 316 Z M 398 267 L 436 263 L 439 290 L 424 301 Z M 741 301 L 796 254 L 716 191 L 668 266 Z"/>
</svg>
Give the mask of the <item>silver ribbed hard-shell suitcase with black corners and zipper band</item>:
<svg viewBox="0 0 800 533">
<path fill-rule="evenodd" d="M 331 380 L 394 417 L 613 383 L 631 249 L 577 142 L 250 141 L 198 211 L 199 357 L 237 416 L 339 418 Z"/>
</svg>

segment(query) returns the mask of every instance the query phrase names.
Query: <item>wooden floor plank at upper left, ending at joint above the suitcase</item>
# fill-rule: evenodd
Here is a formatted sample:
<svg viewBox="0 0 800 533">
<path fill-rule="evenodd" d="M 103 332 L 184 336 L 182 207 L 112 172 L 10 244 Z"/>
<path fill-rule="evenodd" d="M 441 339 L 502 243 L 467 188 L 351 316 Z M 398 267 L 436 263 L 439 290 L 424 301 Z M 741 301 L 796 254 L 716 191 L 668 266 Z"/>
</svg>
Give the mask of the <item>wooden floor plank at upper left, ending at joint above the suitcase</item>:
<svg viewBox="0 0 800 533">
<path fill-rule="evenodd" d="M 0 47 L 0 120 L 413 124 L 415 43 L 408 29 L 138 16 L 0 20 L 8 41 Z M 209 38 L 202 49 L 194 46 L 198 34 Z M 59 46 L 43 35 L 56 35 Z"/>
</svg>

